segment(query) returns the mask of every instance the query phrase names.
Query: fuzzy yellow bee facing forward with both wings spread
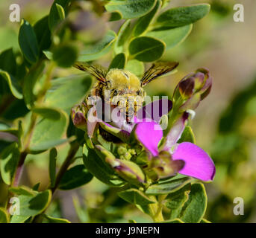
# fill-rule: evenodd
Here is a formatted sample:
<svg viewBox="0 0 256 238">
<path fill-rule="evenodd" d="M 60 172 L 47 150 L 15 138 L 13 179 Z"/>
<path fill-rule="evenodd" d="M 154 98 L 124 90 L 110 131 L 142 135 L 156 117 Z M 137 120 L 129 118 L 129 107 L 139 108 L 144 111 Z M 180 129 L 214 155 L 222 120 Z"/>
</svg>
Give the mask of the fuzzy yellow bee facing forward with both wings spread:
<svg viewBox="0 0 256 238">
<path fill-rule="evenodd" d="M 125 112 L 127 122 L 143 105 L 146 97 L 143 87 L 177 66 L 178 62 L 156 62 L 140 79 L 125 69 L 112 68 L 107 71 L 100 65 L 89 65 L 85 62 L 76 62 L 74 65 L 75 68 L 96 77 L 97 82 L 88 97 L 97 96 L 112 107 L 119 106 Z"/>
</svg>

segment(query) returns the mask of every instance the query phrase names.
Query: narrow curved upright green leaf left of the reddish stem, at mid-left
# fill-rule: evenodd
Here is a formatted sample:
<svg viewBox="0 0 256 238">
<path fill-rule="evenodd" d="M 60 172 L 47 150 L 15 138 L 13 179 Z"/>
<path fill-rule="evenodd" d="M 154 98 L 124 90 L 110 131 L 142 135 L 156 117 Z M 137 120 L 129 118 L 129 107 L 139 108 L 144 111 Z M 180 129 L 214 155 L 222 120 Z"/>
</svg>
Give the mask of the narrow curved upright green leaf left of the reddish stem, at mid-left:
<svg viewBox="0 0 256 238">
<path fill-rule="evenodd" d="M 23 97 L 25 104 L 28 109 L 34 106 L 34 101 L 36 96 L 34 95 L 34 86 L 37 83 L 37 80 L 43 75 L 43 70 L 46 67 L 45 63 L 40 64 L 38 67 L 31 68 L 28 74 L 25 76 L 23 84 Z"/>
</svg>

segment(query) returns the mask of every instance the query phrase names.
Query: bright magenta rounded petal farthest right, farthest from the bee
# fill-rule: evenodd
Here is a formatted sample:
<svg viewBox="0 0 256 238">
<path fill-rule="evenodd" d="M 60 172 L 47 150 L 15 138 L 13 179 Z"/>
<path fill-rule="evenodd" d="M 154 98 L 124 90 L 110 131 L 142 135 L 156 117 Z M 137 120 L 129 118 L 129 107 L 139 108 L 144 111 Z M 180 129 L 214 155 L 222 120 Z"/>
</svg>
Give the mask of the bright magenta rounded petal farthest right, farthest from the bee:
<svg viewBox="0 0 256 238">
<path fill-rule="evenodd" d="M 191 176 L 202 181 L 212 181 L 215 176 L 215 166 L 207 153 L 190 142 L 178 144 L 172 155 L 173 160 L 185 161 L 183 169 L 179 173 Z"/>
</svg>

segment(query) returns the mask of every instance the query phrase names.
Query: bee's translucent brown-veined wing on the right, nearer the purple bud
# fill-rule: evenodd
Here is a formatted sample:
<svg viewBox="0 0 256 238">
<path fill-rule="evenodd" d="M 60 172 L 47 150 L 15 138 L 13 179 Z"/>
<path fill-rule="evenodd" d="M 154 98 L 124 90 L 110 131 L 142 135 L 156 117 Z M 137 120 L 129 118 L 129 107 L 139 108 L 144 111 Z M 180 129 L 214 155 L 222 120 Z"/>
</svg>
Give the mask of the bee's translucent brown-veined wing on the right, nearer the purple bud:
<svg viewBox="0 0 256 238">
<path fill-rule="evenodd" d="M 141 86 L 146 86 L 152 80 L 167 74 L 178 66 L 178 62 L 156 62 L 143 75 L 140 80 Z"/>
</svg>

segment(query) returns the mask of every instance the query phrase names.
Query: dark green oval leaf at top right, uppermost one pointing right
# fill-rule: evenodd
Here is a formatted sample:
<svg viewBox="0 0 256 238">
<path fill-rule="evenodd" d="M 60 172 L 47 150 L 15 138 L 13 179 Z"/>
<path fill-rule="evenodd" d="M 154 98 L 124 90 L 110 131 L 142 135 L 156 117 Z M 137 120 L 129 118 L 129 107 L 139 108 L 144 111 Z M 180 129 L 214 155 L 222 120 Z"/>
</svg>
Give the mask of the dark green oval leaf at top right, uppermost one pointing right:
<svg viewBox="0 0 256 238">
<path fill-rule="evenodd" d="M 189 25 L 202 19 L 210 11 L 210 4 L 196 4 L 187 7 L 175 7 L 161 13 L 157 23 L 166 27 Z"/>
</svg>

